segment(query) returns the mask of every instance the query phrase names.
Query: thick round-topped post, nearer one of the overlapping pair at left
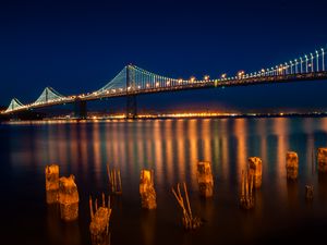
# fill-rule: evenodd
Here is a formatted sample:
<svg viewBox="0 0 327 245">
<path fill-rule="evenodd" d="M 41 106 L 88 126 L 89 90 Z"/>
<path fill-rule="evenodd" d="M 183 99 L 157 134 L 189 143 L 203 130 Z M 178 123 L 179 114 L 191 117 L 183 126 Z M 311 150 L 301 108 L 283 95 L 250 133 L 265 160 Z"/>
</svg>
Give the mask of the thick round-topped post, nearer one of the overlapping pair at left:
<svg viewBox="0 0 327 245">
<path fill-rule="evenodd" d="M 60 217 L 64 221 L 72 221 L 78 218 L 78 191 L 74 182 L 74 175 L 59 179 L 59 204 Z"/>
</svg>

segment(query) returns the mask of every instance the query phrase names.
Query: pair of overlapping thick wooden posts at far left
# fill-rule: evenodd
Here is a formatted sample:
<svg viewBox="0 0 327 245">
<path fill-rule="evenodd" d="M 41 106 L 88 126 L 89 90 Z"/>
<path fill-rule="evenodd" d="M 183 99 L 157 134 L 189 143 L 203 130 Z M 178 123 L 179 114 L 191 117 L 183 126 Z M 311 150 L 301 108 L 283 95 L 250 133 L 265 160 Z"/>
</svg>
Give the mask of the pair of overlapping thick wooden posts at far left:
<svg viewBox="0 0 327 245">
<path fill-rule="evenodd" d="M 49 205 L 60 205 L 60 218 L 73 221 L 78 218 L 78 191 L 74 175 L 59 177 L 59 166 L 47 166 L 46 199 Z"/>
</svg>

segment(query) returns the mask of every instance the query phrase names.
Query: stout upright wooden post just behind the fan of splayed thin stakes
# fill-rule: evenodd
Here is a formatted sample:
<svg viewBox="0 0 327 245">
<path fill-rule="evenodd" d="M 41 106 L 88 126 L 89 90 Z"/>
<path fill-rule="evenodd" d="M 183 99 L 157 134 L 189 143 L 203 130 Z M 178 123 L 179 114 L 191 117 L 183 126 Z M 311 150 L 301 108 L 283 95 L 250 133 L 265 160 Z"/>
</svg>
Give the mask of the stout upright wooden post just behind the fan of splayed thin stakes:
<svg viewBox="0 0 327 245">
<path fill-rule="evenodd" d="M 214 195 L 214 179 L 209 161 L 197 162 L 197 183 L 202 196 L 211 197 Z"/>
</svg>

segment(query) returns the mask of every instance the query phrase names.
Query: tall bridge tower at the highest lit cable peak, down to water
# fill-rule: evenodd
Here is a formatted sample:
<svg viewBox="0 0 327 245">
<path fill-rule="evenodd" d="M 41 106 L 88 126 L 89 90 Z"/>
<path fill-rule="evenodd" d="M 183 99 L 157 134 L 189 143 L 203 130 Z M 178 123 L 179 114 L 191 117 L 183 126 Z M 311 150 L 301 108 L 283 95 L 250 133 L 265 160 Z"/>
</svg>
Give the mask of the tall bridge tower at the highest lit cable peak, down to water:
<svg viewBox="0 0 327 245">
<path fill-rule="evenodd" d="M 129 64 L 126 66 L 126 118 L 135 119 L 137 115 L 135 69 Z"/>
</svg>

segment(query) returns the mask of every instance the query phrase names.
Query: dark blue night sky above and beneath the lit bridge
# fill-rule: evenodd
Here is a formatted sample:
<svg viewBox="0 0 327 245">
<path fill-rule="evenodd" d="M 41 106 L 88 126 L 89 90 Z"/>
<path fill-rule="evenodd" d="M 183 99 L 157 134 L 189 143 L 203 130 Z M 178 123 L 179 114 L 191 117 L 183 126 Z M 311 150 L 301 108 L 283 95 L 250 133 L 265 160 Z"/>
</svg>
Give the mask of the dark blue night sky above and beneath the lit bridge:
<svg viewBox="0 0 327 245">
<path fill-rule="evenodd" d="M 46 86 L 64 95 L 96 90 L 128 63 L 185 78 L 257 71 L 326 47 L 326 9 L 323 0 L 1 1 L 0 105 L 32 102 Z M 244 94 L 264 93 L 256 99 L 267 105 L 278 95 L 303 103 L 291 108 L 327 106 L 327 83 L 314 83 L 157 95 L 143 103 L 196 97 L 233 108 L 252 99 Z"/>
</svg>

